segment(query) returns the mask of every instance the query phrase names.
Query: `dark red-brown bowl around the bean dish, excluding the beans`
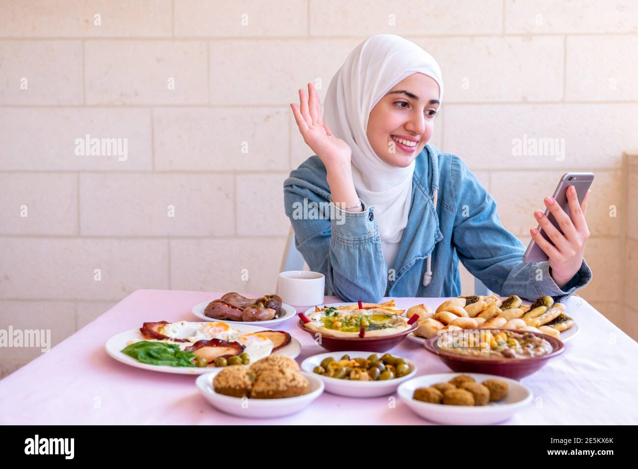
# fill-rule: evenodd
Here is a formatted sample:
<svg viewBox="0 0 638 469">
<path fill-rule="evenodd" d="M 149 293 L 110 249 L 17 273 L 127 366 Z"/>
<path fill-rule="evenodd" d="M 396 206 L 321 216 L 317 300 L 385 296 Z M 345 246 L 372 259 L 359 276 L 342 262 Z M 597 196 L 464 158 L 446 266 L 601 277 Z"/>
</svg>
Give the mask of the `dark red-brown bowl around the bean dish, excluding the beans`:
<svg viewBox="0 0 638 469">
<path fill-rule="evenodd" d="M 500 331 L 509 331 L 510 329 L 479 329 L 479 331 L 492 331 L 498 333 Z M 523 331 L 515 331 L 521 334 Z M 459 333 L 463 331 L 447 332 L 448 334 Z M 464 357 L 463 355 L 452 354 L 441 350 L 436 345 L 440 336 L 434 336 L 426 340 L 426 350 L 431 354 L 438 355 L 443 363 L 445 363 L 452 371 L 461 373 L 485 373 L 486 375 L 505 376 L 514 380 L 520 380 L 525 376 L 529 376 L 538 369 L 542 368 L 547 361 L 553 359 L 557 355 L 565 351 L 565 345 L 559 340 L 551 336 L 540 334 L 539 332 L 524 331 L 523 333 L 534 334 L 548 341 L 552 346 L 549 354 L 540 355 L 539 357 L 530 357 L 522 359 L 489 359 L 481 357 Z"/>
</svg>

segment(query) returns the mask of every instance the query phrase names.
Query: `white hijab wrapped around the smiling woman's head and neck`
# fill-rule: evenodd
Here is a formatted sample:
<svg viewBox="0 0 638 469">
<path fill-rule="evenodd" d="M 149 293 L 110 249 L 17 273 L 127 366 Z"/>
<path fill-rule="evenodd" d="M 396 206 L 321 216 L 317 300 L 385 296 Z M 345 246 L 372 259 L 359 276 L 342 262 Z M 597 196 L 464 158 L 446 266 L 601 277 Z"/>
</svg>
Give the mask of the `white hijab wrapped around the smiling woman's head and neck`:
<svg viewBox="0 0 638 469">
<path fill-rule="evenodd" d="M 385 163 L 372 149 L 366 129 L 376 103 L 397 83 L 417 72 L 436 80 L 442 103 L 443 79 L 434 58 L 401 36 L 375 34 L 350 52 L 332 78 L 324 104 L 323 121 L 336 137 L 350 145 L 355 189 L 361 200 L 375 207 L 383 246 L 394 245 L 390 246 L 394 256 L 408 224 L 415 161 L 405 168 Z M 386 263 L 391 264 L 387 259 Z"/>
</svg>

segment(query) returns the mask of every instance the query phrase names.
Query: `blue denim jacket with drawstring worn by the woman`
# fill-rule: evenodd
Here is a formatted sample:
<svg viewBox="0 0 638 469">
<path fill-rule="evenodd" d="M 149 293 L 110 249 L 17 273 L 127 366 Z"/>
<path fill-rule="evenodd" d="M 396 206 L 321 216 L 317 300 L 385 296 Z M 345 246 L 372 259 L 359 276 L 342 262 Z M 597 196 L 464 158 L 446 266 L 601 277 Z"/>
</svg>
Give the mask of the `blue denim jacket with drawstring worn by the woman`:
<svg viewBox="0 0 638 469">
<path fill-rule="evenodd" d="M 408 225 L 394 265 L 383 260 L 375 207 L 362 200 L 363 211 L 350 213 L 331 200 L 318 156 L 284 181 L 295 246 L 312 271 L 325 275 L 325 293 L 345 301 L 455 297 L 461 294 L 459 260 L 494 293 L 530 301 L 544 295 L 561 301 L 591 280 L 584 260 L 563 289 L 551 278 L 549 262 L 523 262 L 525 246 L 503 228 L 491 195 L 458 156 L 429 144 L 416 158 Z M 429 255 L 432 277 L 424 286 Z"/>
</svg>

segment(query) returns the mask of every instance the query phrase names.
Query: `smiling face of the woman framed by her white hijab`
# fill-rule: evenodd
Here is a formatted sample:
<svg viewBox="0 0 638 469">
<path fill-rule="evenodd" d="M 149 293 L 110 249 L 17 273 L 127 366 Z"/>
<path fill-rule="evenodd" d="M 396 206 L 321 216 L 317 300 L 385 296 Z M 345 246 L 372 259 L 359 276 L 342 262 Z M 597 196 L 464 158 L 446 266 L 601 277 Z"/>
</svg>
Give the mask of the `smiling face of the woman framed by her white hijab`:
<svg viewBox="0 0 638 469">
<path fill-rule="evenodd" d="M 412 163 L 432 137 L 438 96 L 434 78 L 412 73 L 376 103 L 366 134 L 379 158 L 400 168 Z"/>
</svg>

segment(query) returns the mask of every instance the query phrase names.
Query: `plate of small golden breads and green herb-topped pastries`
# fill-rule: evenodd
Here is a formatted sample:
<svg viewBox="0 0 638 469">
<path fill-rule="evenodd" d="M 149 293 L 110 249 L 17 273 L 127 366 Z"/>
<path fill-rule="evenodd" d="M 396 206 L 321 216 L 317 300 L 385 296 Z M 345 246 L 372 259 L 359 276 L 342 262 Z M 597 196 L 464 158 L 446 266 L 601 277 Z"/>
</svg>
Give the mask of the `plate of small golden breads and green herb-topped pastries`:
<svg viewBox="0 0 638 469">
<path fill-rule="evenodd" d="M 406 311 L 419 315 L 419 327 L 408 339 L 425 343 L 426 339 L 461 329 L 510 329 L 540 332 L 563 342 L 578 333 L 578 325 L 565 311 L 565 304 L 550 296 L 524 304 L 517 295 L 501 299 L 496 295 L 459 296 L 442 302 L 436 311 L 427 304 L 415 304 Z"/>
</svg>

